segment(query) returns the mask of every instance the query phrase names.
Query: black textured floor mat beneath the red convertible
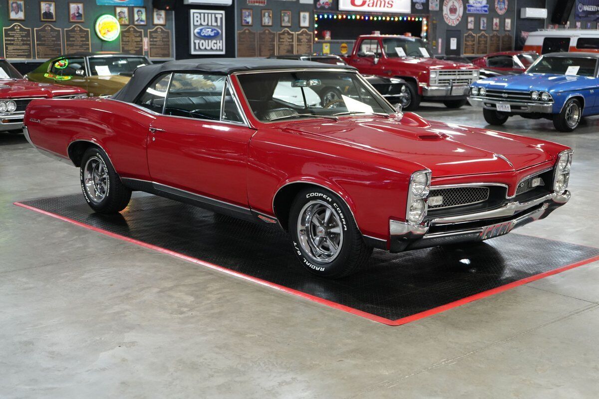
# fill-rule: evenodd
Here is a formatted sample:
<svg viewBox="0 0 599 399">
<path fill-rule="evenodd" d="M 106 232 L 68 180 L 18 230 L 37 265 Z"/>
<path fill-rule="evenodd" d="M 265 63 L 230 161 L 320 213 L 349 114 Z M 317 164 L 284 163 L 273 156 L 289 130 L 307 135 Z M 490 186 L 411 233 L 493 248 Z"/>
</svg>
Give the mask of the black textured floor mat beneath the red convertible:
<svg viewBox="0 0 599 399">
<path fill-rule="evenodd" d="M 401 254 L 375 249 L 364 271 L 328 280 L 302 268 L 288 236 L 278 227 L 149 194 L 135 193 L 129 207 L 112 216 L 95 214 L 81 194 L 22 204 L 299 291 L 323 303 L 337 303 L 386 324 L 403 324 L 440 306 L 456 301 L 457 306 L 472 296 L 599 255 L 596 248 L 510 233 L 462 247 Z"/>
</svg>

